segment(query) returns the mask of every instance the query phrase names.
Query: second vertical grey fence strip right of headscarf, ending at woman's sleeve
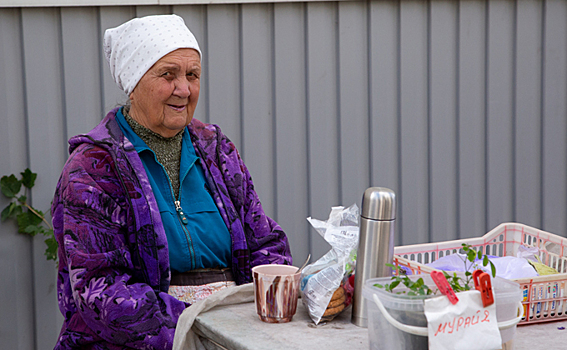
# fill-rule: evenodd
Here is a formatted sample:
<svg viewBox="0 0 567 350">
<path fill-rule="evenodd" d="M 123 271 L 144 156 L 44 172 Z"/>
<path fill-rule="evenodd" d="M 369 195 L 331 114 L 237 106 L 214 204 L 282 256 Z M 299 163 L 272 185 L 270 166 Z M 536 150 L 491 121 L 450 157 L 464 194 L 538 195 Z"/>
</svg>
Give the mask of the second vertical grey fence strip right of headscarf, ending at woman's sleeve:
<svg viewBox="0 0 567 350">
<path fill-rule="evenodd" d="M 242 5 L 242 145 L 246 166 L 262 206 L 274 208 L 272 8 Z M 258 174 L 259 176 L 256 176 Z M 261 174 L 261 175 L 260 175 Z"/>
</svg>

